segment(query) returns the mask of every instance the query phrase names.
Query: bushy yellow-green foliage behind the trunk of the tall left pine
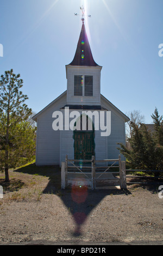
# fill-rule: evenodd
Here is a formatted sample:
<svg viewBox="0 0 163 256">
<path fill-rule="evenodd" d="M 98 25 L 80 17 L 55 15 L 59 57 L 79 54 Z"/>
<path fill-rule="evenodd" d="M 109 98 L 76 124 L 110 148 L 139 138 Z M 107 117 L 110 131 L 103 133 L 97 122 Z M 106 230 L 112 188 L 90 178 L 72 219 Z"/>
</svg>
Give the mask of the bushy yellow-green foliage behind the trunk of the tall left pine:
<svg viewBox="0 0 163 256">
<path fill-rule="evenodd" d="M 2 121 L 2 120 L 1 120 Z M 1 123 L 2 124 L 2 123 Z M 4 168 L 5 163 L 5 134 L 0 124 L 0 150 L 1 159 L 0 167 Z M 15 168 L 28 163 L 34 159 L 35 154 L 35 131 L 36 127 L 32 126 L 28 120 L 22 120 L 11 127 L 9 133 L 8 148 L 8 167 Z M 3 135 L 3 137 L 2 137 Z"/>
</svg>

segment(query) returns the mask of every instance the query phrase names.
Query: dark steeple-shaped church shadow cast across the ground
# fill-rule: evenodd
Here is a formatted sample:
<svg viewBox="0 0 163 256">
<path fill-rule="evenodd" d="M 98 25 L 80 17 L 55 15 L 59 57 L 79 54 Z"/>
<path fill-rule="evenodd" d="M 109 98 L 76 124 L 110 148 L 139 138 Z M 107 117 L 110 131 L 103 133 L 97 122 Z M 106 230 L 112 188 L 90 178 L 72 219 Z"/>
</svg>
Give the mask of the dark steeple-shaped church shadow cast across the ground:
<svg viewBox="0 0 163 256">
<path fill-rule="evenodd" d="M 26 167 L 19 168 L 15 172 L 28 173 L 31 175 L 42 175 L 47 176 L 49 182 L 47 187 L 42 191 L 42 193 L 53 193 L 58 195 L 62 202 L 66 205 L 68 211 L 71 212 L 74 222 L 76 223 L 76 228 L 73 232 L 73 236 L 82 235 L 82 225 L 85 223 L 90 212 L 96 208 L 96 206 L 104 199 L 104 197 L 111 194 L 112 196 L 118 194 L 124 194 L 128 196 L 134 189 L 145 188 L 152 193 L 158 192 L 159 184 L 155 182 L 160 182 L 162 180 L 156 181 L 153 179 L 138 179 L 131 178 L 132 182 L 148 182 L 149 184 L 128 184 L 128 190 L 118 190 L 116 189 L 98 189 L 91 190 L 86 186 L 72 186 L 67 187 L 65 190 L 61 190 L 61 170 L 59 166 L 46 166 L 37 167 L 34 164 L 29 164 Z M 129 179 L 128 179 L 129 181 Z M 20 181 L 18 181 L 20 183 Z M 150 184 L 151 183 L 151 184 Z M 21 184 L 21 183 L 20 183 Z"/>
</svg>

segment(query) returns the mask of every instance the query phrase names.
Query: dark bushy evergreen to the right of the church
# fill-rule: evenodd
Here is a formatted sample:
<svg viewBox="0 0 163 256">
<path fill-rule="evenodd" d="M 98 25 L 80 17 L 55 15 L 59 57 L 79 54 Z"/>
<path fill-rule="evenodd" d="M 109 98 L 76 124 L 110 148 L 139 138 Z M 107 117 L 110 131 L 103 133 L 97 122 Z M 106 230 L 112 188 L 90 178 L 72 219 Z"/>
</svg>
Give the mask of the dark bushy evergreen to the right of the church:
<svg viewBox="0 0 163 256">
<path fill-rule="evenodd" d="M 155 109 L 152 114 L 154 120 L 154 132 L 147 129 L 145 124 L 140 126 L 131 123 L 132 136 L 129 138 L 130 150 L 122 143 L 118 148 L 128 162 L 131 169 L 143 170 L 163 170 L 163 129 L 162 117 L 159 116 L 158 110 Z M 154 175 L 158 175 L 154 173 Z"/>
</svg>

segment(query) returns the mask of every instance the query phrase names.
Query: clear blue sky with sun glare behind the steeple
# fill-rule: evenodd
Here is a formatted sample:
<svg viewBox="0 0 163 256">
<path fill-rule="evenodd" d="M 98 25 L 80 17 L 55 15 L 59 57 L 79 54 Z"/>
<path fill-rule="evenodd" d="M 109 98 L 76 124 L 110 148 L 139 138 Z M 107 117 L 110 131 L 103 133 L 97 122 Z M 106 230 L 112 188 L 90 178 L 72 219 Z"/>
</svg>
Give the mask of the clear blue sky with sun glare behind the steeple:
<svg viewBox="0 0 163 256">
<path fill-rule="evenodd" d="M 123 113 L 140 110 L 152 123 L 163 114 L 162 0 L 1 0 L 0 74 L 14 69 L 27 105 L 39 112 L 66 90 L 65 65 L 76 51 L 85 19 L 101 93 Z"/>
</svg>

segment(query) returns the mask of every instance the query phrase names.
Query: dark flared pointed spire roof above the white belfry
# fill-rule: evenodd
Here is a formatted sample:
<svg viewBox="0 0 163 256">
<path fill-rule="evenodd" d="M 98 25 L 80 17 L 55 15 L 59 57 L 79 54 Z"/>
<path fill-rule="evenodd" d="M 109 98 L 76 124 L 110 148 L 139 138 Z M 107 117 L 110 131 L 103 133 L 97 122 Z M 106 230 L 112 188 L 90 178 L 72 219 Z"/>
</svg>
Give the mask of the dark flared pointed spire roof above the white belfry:
<svg viewBox="0 0 163 256">
<path fill-rule="evenodd" d="M 84 20 L 84 19 L 83 19 Z M 91 47 L 85 30 L 83 21 L 82 30 L 80 32 L 77 50 L 72 62 L 69 65 L 73 66 L 98 66 L 92 56 Z"/>
</svg>

